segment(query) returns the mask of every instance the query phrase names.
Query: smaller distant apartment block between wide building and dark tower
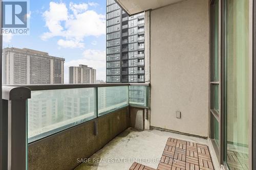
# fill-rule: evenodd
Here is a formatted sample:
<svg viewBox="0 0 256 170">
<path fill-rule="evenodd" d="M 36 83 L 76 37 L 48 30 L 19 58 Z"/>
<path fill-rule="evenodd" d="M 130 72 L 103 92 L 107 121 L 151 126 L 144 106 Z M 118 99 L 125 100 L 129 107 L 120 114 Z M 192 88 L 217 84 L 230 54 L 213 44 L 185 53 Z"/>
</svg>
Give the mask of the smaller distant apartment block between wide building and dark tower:
<svg viewBox="0 0 256 170">
<path fill-rule="evenodd" d="M 96 69 L 80 64 L 78 67 L 69 67 L 70 84 L 94 84 L 96 83 Z"/>
</svg>

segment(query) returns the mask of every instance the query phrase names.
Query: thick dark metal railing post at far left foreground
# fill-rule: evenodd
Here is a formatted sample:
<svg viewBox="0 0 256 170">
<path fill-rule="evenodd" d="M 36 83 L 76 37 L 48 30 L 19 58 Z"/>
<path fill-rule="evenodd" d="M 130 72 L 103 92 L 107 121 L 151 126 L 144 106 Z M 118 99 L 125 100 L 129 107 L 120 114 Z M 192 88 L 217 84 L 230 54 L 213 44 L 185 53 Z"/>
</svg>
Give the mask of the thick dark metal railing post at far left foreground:
<svg viewBox="0 0 256 170">
<path fill-rule="evenodd" d="M 4 129 L 3 164 L 8 170 L 27 169 L 27 99 L 31 91 L 27 87 L 3 86 Z"/>
</svg>

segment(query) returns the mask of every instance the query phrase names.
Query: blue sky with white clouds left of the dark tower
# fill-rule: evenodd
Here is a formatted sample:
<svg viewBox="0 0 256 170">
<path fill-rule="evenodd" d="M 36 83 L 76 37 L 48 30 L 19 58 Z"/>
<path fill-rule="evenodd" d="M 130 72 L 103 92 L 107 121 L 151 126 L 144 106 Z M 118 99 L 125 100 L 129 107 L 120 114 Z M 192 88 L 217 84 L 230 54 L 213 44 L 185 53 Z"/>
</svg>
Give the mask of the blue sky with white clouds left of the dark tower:
<svg viewBox="0 0 256 170">
<path fill-rule="evenodd" d="M 30 0 L 30 35 L 3 36 L 3 47 L 31 48 L 65 58 L 69 66 L 85 64 L 105 80 L 105 0 Z"/>
</svg>

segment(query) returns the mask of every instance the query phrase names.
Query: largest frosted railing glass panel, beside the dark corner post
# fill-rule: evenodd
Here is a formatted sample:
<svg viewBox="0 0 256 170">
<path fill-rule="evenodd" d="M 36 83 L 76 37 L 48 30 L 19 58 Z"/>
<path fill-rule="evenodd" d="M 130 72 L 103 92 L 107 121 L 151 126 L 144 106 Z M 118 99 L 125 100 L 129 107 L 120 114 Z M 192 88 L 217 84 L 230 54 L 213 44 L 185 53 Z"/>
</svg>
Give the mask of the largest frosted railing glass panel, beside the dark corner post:
<svg viewBox="0 0 256 170">
<path fill-rule="evenodd" d="M 97 117 L 96 89 L 32 91 L 28 100 L 28 141 Z"/>
</svg>

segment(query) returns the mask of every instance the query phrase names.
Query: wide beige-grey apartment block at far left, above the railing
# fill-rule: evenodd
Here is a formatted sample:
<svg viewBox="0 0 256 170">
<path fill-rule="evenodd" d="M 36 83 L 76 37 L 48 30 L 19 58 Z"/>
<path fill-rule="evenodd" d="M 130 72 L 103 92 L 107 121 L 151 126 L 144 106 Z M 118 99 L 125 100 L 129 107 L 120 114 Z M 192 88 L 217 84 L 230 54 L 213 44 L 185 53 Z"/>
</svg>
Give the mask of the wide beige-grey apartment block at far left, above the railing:
<svg viewBox="0 0 256 170">
<path fill-rule="evenodd" d="M 63 84 L 64 62 L 28 48 L 4 48 L 3 84 Z"/>
</svg>

